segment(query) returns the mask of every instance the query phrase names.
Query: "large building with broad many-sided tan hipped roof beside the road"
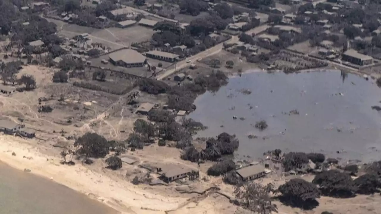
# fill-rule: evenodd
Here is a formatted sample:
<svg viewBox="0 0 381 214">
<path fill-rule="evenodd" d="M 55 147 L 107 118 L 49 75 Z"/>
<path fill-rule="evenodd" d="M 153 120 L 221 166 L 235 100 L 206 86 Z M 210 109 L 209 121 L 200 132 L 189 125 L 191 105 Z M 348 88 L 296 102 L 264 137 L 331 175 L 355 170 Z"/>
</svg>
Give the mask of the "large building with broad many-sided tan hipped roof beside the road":
<svg viewBox="0 0 381 214">
<path fill-rule="evenodd" d="M 110 62 L 123 67 L 143 67 L 147 59 L 138 51 L 123 49 L 109 55 Z"/>
</svg>

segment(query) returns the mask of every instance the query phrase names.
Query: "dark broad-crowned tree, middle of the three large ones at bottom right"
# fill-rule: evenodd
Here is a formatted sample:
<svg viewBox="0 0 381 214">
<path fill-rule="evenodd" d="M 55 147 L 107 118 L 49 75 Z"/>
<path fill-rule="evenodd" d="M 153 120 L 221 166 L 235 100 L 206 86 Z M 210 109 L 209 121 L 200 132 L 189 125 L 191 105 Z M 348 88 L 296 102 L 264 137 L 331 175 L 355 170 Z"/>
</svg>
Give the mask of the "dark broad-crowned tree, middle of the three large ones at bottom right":
<svg viewBox="0 0 381 214">
<path fill-rule="evenodd" d="M 317 174 L 312 183 L 319 184 L 319 189 L 326 196 L 347 198 L 354 196 L 356 192 L 351 176 L 336 170 L 323 171 Z"/>
</svg>

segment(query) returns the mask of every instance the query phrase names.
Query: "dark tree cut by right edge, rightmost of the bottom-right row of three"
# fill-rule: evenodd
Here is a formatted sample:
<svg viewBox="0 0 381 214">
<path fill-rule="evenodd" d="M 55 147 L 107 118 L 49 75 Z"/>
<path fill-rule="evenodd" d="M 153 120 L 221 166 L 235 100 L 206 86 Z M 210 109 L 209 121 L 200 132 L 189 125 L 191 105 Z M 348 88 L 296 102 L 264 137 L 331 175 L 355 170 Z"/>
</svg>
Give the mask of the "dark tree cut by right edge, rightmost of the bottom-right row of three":
<svg viewBox="0 0 381 214">
<path fill-rule="evenodd" d="M 381 182 L 377 174 L 365 174 L 354 180 L 357 189 L 356 193 L 370 195 L 379 192 Z"/>
</svg>

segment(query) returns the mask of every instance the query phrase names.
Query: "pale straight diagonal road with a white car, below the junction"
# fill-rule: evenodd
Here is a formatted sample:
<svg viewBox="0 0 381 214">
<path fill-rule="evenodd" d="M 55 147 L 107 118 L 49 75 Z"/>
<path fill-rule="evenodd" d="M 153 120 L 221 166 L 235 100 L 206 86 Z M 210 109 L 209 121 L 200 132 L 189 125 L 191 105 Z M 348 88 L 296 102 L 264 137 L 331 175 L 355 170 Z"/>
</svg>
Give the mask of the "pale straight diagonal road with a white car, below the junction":
<svg viewBox="0 0 381 214">
<path fill-rule="evenodd" d="M 226 42 L 238 42 L 239 41 L 239 38 L 237 36 L 233 36 L 230 40 L 227 40 Z M 202 51 L 194 56 L 191 56 L 191 57 L 188 57 L 187 60 L 183 60 L 183 61 L 180 61 L 176 64 L 176 69 L 170 69 L 170 70 L 166 70 L 164 73 L 162 73 L 161 75 L 159 75 L 157 77 L 158 80 L 162 80 L 170 75 L 172 75 L 173 73 L 176 72 L 176 70 L 180 70 L 180 69 L 183 69 L 187 66 L 189 66 L 189 64 L 186 62 L 188 60 L 191 60 L 192 62 L 195 62 L 199 59 L 203 59 L 205 57 L 208 57 L 208 56 L 211 56 L 211 55 L 214 55 L 214 54 L 217 54 L 219 53 L 222 48 L 223 48 L 223 43 L 219 43 L 218 45 L 216 46 L 213 46 L 205 51 Z"/>
</svg>

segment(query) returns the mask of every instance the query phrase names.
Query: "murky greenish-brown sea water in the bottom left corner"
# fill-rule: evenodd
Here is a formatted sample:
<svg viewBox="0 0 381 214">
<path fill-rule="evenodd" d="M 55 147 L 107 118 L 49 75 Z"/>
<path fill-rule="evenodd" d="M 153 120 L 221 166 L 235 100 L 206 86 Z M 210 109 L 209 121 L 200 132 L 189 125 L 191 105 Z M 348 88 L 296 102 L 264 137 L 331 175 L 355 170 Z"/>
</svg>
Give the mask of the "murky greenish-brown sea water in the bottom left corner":
<svg viewBox="0 0 381 214">
<path fill-rule="evenodd" d="M 116 214 L 63 185 L 0 163 L 1 214 Z"/>
</svg>

